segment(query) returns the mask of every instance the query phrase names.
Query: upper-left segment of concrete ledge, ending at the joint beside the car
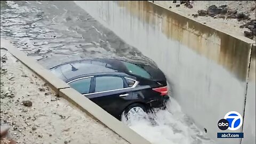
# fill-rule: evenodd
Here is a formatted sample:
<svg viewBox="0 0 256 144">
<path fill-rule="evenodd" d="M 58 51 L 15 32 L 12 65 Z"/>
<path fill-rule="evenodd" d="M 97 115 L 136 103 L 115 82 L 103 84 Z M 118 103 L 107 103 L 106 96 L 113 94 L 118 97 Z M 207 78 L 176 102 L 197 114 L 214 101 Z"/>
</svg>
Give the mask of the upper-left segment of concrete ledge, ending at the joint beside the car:
<svg viewBox="0 0 256 144">
<path fill-rule="evenodd" d="M 51 89 L 58 93 L 59 89 L 65 89 L 70 87 L 68 84 L 63 82 L 60 78 L 54 76 L 51 71 L 45 69 L 39 65 L 35 60 L 28 58 L 27 55 L 14 47 L 9 41 L 1 38 L 1 47 L 7 49 L 15 58 L 20 60 L 24 65 L 31 69 L 34 73 L 40 76 L 47 84 L 50 85 Z"/>
</svg>

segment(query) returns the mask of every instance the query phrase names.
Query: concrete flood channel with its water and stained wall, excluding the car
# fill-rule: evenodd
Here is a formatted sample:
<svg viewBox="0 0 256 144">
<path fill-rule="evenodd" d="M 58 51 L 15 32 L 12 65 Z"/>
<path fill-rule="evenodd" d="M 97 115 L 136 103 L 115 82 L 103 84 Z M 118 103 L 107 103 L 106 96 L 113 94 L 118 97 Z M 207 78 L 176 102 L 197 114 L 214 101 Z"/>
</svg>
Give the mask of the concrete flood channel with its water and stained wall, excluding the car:
<svg viewBox="0 0 256 144">
<path fill-rule="evenodd" d="M 74 2 L 8 1 L 4 9 L 1 5 L 1 38 L 26 53 L 15 57 L 25 65 L 34 63 L 34 73 L 53 91 L 88 114 L 95 112 L 95 118 L 111 130 L 121 130 L 119 126 L 127 129 L 117 134 L 130 143 L 255 142 L 254 41 L 147 1 Z M 152 62 L 164 71 L 172 98 L 167 110 L 155 114 L 156 124 L 143 119 L 124 122 L 132 131 L 106 111 L 91 109 L 93 103 L 77 97 L 76 91 L 45 69 L 69 60 L 98 57 Z M 65 93 L 76 96 L 69 98 Z M 221 132 L 217 123 L 231 110 L 244 117 L 243 129 L 235 131 L 244 132 L 244 139 L 217 139 L 217 132 Z"/>
</svg>

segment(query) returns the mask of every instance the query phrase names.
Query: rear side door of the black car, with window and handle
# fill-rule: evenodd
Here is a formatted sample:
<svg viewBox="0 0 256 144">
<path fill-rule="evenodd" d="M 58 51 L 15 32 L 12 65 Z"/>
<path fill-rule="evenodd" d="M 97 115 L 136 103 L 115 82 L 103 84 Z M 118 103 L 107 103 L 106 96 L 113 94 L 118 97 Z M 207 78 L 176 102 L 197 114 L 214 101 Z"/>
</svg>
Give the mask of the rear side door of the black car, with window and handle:
<svg viewBox="0 0 256 144">
<path fill-rule="evenodd" d="M 87 94 L 86 97 L 117 117 L 124 104 L 132 98 L 131 89 L 124 77 L 104 75 L 96 76 L 93 80 L 94 92 Z"/>
</svg>

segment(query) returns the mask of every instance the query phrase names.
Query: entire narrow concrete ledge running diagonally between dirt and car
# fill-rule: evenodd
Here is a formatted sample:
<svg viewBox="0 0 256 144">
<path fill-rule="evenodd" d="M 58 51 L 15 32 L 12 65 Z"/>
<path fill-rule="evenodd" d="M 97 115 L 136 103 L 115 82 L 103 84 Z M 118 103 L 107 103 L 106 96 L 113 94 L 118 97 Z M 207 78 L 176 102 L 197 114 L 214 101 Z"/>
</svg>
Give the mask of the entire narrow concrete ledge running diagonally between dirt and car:
<svg viewBox="0 0 256 144">
<path fill-rule="evenodd" d="M 15 58 L 20 60 L 25 66 L 31 69 L 44 81 L 50 84 L 51 88 L 58 92 L 59 95 L 69 102 L 82 109 L 85 113 L 91 115 L 93 118 L 98 119 L 103 125 L 120 135 L 129 143 L 134 144 L 150 144 L 145 138 L 141 137 L 138 133 L 127 127 L 124 123 L 118 121 L 115 117 L 107 113 L 94 102 L 84 97 L 81 93 L 72 89 L 58 77 L 54 76 L 51 71 L 45 69 L 35 60 L 28 58 L 27 55 L 19 51 L 9 41 L 1 38 L 1 47 L 7 49 Z"/>
</svg>

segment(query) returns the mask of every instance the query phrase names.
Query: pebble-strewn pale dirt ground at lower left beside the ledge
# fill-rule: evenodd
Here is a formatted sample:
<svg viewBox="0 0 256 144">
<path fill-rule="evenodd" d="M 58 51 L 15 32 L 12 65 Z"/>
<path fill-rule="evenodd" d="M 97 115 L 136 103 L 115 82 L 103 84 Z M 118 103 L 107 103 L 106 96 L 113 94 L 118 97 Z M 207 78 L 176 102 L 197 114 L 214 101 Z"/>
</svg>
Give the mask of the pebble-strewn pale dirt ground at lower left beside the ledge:
<svg viewBox="0 0 256 144">
<path fill-rule="evenodd" d="M 1 129 L 17 143 L 128 143 L 86 115 L 1 47 Z M 1 140 L 8 143 L 9 140 Z"/>
</svg>

